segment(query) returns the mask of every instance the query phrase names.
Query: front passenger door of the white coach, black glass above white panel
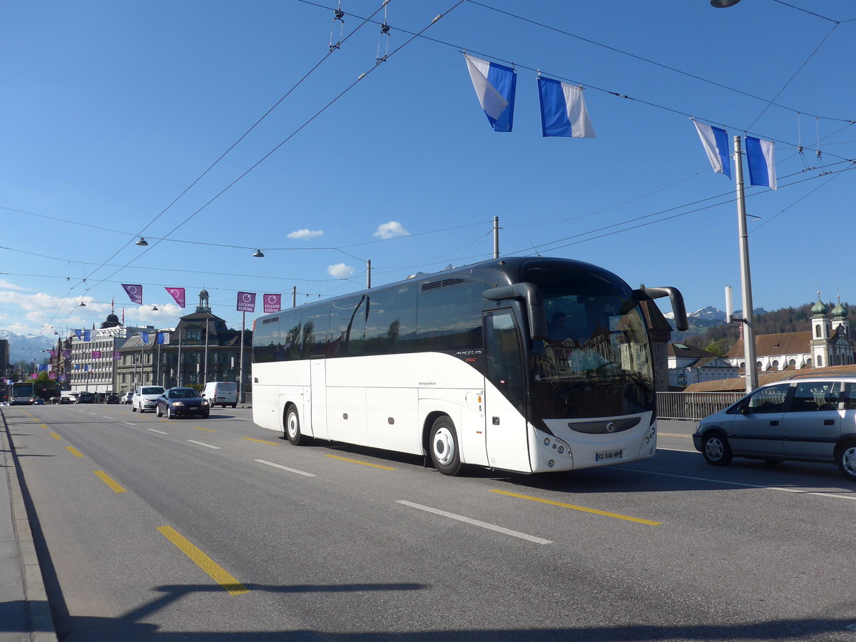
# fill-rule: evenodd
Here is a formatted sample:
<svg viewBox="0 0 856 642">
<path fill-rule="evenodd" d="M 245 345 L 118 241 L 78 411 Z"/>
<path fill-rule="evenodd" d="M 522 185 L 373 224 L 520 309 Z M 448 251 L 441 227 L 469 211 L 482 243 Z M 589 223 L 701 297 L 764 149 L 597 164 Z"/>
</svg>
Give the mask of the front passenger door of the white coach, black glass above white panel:
<svg viewBox="0 0 856 642">
<path fill-rule="evenodd" d="M 484 431 L 490 467 L 531 470 L 524 411 L 526 369 L 511 309 L 484 312 Z"/>
</svg>

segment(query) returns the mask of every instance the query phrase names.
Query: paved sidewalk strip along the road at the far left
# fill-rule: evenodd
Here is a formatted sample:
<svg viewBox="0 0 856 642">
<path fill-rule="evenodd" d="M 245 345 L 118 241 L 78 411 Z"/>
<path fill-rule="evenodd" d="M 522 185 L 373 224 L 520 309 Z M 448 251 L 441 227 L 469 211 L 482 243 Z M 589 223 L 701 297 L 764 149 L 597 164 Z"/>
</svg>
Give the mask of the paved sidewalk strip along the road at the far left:
<svg viewBox="0 0 856 642">
<path fill-rule="evenodd" d="M 51 607 L 0 409 L 0 642 L 56 642 Z"/>
</svg>

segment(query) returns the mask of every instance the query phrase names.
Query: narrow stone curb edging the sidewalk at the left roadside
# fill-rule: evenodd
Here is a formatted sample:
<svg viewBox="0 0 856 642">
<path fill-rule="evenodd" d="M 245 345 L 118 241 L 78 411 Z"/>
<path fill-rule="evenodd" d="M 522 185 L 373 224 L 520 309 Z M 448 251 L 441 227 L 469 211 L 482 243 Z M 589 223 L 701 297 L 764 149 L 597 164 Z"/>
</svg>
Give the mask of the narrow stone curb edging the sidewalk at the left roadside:
<svg viewBox="0 0 856 642">
<path fill-rule="evenodd" d="M 15 456 L 15 446 L 12 444 L 12 437 L 9 434 L 9 425 L 6 423 L 6 417 L 2 413 L 0 415 L 3 416 L 3 429 L 0 430 L 0 442 L 5 440 L 9 446 L 9 454 L 3 453 L 3 463 L 6 468 L 6 480 L 9 488 L 9 502 L 12 509 L 15 541 L 18 544 L 18 559 L 21 565 L 24 599 L 27 603 L 29 639 L 32 642 L 56 642 L 56 627 L 53 615 L 51 615 L 47 591 L 45 591 L 45 580 L 42 577 L 39 556 L 36 554 L 33 531 L 30 528 L 30 520 L 27 515 L 27 503 L 24 502 L 24 495 L 21 492 L 19 478 L 21 470 L 18 465 L 18 458 Z"/>
</svg>

